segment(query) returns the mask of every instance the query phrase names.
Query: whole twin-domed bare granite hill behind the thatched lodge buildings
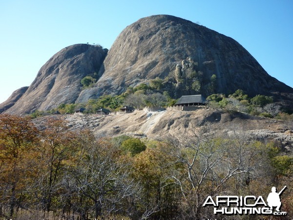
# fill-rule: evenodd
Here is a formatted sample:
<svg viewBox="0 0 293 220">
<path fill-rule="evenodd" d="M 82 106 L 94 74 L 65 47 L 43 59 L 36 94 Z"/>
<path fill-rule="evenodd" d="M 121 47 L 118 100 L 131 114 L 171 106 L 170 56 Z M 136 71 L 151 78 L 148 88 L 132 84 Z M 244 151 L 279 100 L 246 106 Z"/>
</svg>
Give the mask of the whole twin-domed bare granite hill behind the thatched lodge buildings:
<svg viewBox="0 0 293 220">
<path fill-rule="evenodd" d="M 127 26 L 108 51 L 77 44 L 55 54 L 25 94 L 6 110 L 25 114 L 61 103 L 83 103 L 103 94 L 159 77 L 173 98 L 181 95 L 264 94 L 293 105 L 293 88 L 271 77 L 235 40 L 202 25 L 169 15 L 143 18 Z M 81 79 L 97 72 L 97 82 L 81 89 Z"/>
</svg>

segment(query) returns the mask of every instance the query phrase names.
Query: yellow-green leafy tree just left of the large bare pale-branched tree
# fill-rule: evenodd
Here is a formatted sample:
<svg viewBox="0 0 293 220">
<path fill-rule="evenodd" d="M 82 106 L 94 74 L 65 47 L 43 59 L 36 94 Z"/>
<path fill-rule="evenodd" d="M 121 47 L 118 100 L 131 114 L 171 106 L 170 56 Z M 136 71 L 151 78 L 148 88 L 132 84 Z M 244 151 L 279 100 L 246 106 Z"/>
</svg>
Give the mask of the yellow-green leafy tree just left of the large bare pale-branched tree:
<svg viewBox="0 0 293 220">
<path fill-rule="evenodd" d="M 170 178 L 174 170 L 180 170 L 178 162 L 163 148 L 163 143 L 158 143 L 134 158 L 133 176 L 142 187 L 136 202 L 140 219 L 174 219 L 181 200 L 180 189 Z"/>
</svg>

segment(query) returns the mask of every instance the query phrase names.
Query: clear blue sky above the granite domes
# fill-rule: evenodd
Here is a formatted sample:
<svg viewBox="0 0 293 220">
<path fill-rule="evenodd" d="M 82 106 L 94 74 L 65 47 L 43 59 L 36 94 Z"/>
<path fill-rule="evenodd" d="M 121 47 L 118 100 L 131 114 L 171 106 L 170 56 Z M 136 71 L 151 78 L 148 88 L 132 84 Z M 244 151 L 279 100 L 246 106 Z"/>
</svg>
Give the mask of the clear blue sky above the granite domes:
<svg viewBox="0 0 293 220">
<path fill-rule="evenodd" d="M 158 14 L 233 38 L 293 87 L 293 0 L 0 0 L 0 103 L 65 46 L 110 48 L 127 25 Z"/>
</svg>

